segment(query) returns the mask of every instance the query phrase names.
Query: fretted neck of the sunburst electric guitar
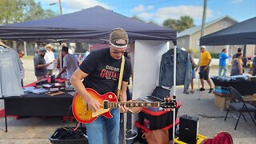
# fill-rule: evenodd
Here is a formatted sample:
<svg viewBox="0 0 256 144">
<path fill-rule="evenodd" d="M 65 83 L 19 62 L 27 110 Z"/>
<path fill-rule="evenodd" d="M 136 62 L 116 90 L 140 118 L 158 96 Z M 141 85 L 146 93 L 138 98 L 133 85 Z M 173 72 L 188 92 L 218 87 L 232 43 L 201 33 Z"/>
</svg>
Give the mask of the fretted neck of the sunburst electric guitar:
<svg viewBox="0 0 256 144">
<path fill-rule="evenodd" d="M 159 107 L 159 102 L 104 102 L 104 109 L 115 108 L 118 105 L 126 107 Z"/>
</svg>

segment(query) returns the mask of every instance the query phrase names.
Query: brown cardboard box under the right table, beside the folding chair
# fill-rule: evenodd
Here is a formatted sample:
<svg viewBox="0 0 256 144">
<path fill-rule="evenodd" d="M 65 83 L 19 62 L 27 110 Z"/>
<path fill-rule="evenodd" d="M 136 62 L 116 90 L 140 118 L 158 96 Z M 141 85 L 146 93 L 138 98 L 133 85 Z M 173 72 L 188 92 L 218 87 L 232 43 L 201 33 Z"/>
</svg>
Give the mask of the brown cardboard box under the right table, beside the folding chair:
<svg viewBox="0 0 256 144">
<path fill-rule="evenodd" d="M 218 108 L 222 110 L 227 110 L 230 106 L 230 101 L 231 101 L 230 97 L 221 97 L 221 96 L 215 95 L 214 105 L 218 106 Z"/>
</svg>

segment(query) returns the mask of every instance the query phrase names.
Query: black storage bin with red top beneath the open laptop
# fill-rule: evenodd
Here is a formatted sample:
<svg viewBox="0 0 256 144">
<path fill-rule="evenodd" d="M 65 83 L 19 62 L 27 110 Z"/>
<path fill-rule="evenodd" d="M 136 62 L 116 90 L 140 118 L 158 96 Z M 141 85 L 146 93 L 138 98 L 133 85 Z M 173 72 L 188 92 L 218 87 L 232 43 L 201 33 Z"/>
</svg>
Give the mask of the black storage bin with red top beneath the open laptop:
<svg viewBox="0 0 256 144">
<path fill-rule="evenodd" d="M 182 103 L 177 102 L 175 118 L 177 118 L 178 108 L 180 106 L 182 106 Z M 149 130 L 162 129 L 163 127 L 169 126 L 173 123 L 173 111 L 161 110 L 155 112 L 147 108 L 142 108 L 142 111 L 138 114 L 138 122 Z"/>
</svg>

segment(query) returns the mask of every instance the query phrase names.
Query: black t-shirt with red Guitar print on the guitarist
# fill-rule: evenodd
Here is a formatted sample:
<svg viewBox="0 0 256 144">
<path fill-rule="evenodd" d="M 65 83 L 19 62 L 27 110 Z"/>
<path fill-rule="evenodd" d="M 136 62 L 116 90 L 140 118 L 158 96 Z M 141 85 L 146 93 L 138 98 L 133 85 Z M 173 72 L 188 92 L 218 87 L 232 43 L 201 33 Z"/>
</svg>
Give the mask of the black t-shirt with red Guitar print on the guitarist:
<svg viewBox="0 0 256 144">
<path fill-rule="evenodd" d="M 89 74 L 83 81 L 84 86 L 96 90 L 98 94 L 117 94 L 121 62 L 122 58 L 117 60 L 110 56 L 110 48 L 91 52 L 79 66 L 80 70 Z M 129 81 L 130 71 L 131 64 L 126 58 L 122 81 Z"/>
</svg>

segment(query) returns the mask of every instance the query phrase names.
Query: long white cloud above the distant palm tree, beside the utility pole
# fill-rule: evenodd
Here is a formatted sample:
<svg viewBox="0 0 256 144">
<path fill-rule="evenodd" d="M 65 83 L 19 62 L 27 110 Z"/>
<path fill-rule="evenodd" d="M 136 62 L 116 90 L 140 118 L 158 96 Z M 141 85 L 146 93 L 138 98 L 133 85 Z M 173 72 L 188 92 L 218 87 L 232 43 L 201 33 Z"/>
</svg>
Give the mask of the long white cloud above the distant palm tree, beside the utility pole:
<svg viewBox="0 0 256 144">
<path fill-rule="evenodd" d="M 164 21 L 168 18 L 179 19 L 181 16 L 188 15 L 194 20 L 202 19 L 202 6 L 169 6 L 160 8 L 155 16 Z M 213 12 L 210 9 L 206 11 L 206 18 L 213 16 Z"/>
</svg>

